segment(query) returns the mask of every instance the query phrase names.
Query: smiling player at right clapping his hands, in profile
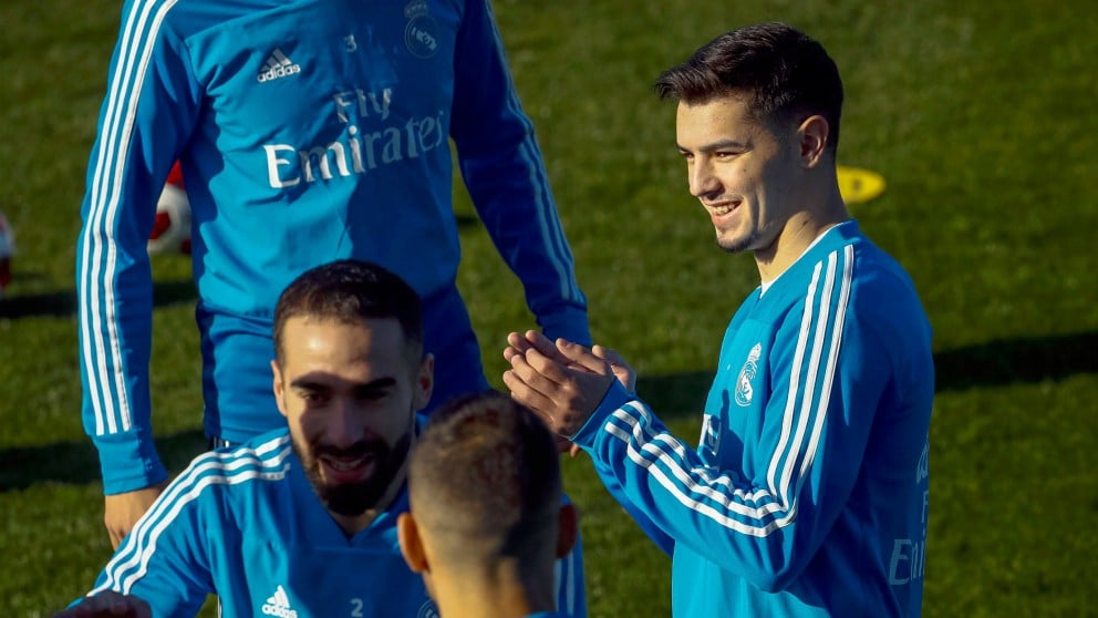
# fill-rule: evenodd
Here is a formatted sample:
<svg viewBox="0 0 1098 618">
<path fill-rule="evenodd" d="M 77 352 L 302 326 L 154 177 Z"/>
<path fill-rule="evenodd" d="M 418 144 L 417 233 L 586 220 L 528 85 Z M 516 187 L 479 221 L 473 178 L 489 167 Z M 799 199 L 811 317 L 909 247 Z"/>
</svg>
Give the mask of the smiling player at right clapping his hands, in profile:
<svg viewBox="0 0 1098 618">
<path fill-rule="evenodd" d="M 511 333 L 504 380 L 673 554 L 675 616 L 918 616 L 931 329 L 839 195 L 838 69 L 817 41 L 765 23 L 656 87 L 679 102 L 690 192 L 717 244 L 752 251 L 762 278 L 725 332 L 697 447 L 601 347 Z"/>
</svg>

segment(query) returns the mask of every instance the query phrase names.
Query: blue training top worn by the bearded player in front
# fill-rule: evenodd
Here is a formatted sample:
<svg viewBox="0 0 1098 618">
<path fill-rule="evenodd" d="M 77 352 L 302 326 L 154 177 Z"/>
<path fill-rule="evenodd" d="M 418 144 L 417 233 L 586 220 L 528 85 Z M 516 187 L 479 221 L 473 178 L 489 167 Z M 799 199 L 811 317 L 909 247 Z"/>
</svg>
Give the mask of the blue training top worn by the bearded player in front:
<svg viewBox="0 0 1098 618">
<path fill-rule="evenodd" d="M 135 595 L 157 617 L 194 616 L 213 594 L 224 616 L 437 618 L 423 578 L 401 556 L 396 518 L 407 509 L 402 488 L 348 538 L 282 429 L 196 457 L 137 522 L 89 595 Z M 557 562 L 560 616 L 587 616 L 581 553 L 577 546 Z"/>
</svg>

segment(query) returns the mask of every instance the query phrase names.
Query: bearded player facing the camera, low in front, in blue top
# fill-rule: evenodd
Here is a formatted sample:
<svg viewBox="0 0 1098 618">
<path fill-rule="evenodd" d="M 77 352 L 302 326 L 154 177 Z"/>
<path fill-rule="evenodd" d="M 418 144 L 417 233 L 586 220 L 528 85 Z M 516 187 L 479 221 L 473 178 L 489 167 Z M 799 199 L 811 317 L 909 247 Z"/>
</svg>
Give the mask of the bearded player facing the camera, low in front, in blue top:
<svg viewBox="0 0 1098 618">
<path fill-rule="evenodd" d="M 142 602 L 156 616 L 193 616 L 209 594 L 225 616 L 437 612 L 396 528 L 415 411 L 434 387 L 418 297 L 372 264 L 320 266 L 280 297 L 274 342 L 283 428 L 195 459 L 72 616 Z M 561 562 L 566 610 L 582 586 L 572 564 Z"/>
</svg>

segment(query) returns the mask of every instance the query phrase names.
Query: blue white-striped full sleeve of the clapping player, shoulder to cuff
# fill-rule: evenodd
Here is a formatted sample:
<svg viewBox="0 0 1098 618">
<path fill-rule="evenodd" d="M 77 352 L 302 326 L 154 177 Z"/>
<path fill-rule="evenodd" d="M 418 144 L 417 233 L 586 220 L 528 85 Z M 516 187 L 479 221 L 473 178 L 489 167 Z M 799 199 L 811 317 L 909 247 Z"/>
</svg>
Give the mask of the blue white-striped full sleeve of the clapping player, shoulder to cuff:
<svg viewBox="0 0 1098 618">
<path fill-rule="evenodd" d="M 617 383 L 573 437 L 660 529 L 764 590 L 796 580 L 847 504 L 885 387 L 880 339 L 824 313 L 781 327 L 758 444 L 736 468 L 706 463 Z"/>
</svg>

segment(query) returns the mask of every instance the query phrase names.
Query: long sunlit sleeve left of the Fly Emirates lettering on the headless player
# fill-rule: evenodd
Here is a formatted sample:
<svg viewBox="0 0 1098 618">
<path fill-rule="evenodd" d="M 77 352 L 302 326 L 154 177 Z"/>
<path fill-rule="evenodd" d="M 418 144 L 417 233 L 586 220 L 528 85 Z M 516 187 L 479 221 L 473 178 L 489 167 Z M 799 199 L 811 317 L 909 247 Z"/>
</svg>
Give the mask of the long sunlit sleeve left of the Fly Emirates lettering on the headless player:
<svg viewBox="0 0 1098 618">
<path fill-rule="evenodd" d="M 149 424 L 153 289 L 146 243 L 157 196 L 194 126 L 198 89 L 159 7 L 123 8 L 76 244 L 81 413 L 100 452 L 106 494 L 167 476 Z"/>
</svg>

